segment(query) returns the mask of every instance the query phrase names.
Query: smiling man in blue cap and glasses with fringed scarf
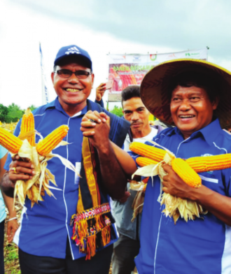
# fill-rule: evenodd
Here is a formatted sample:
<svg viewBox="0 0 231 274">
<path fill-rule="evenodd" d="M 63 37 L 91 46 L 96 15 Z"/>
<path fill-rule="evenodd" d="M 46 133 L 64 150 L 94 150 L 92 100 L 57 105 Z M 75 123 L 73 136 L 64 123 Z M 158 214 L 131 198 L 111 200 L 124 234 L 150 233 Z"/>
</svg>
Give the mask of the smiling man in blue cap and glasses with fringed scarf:
<svg viewBox="0 0 231 274">
<path fill-rule="evenodd" d="M 108 155 L 98 153 L 99 147 L 93 147 L 88 138 L 83 138 L 80 123 L 89 111 L 105 112 L 111 118 L 110 139 L 120 147 L 130 124 L 87 99 L 94 82 L 92 61 L 77 45 L 59 50 L 51 78 L 57 98 L 34 110 L 35 129 L 45 137 L 60 125 L 68 125 L 69 133 L 64 140 L 69 145 L 59 146 L 53 152 L 71 161 L 80 177 L 57 157 L 48 161 L 48 169 L 57 183 L 57 187 L 50 186 L 55 198 L 45 194 L 44 201 L 38 201 L 32 208 L 31 201 L 26 199 L 18 239 L 15 238 L 20 268 L 22 274 L 108 274 L 112 244 L 116 241 L 109 194 L 117 198 L 125 189 L 123 193 L 113 193 L 104 182 L 111 180 L 116 185 L 125 175 L 118 172 L 113 178 L 109 176 L 104 168 Z M 20 124 L 21 121 L 15 129 L 16 136 L 20 134 Z M 38 140 L 36 136 L 36 143 Z M 111 168 L 119 169 L 115 156 L 110 158 L 110 163 Z M 17 180 L 28 180 L 34 175 L 33 164 L 20 161 L 19 157 L 8 157 L 5 169 L 8 173 L 4 175 L 2 187 L 8 195 L 13 195 L 12 186 Z"/>
</svg>

